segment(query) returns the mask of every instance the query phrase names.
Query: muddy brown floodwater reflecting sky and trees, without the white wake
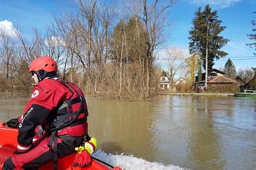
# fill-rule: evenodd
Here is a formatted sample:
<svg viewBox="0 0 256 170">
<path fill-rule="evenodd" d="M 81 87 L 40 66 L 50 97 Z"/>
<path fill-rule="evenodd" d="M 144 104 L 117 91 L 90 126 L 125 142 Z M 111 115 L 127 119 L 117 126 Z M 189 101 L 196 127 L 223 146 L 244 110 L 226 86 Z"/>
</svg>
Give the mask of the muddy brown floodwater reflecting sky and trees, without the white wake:
<svg viewBox="0 0 256 170">
<path fill-rule="evenodd" d="M 116 102 L 87 96 L 90 135 L 105 152 L 191 169 L 256 169 L 256 99 L 159 96 Z M 24 99 L 0 100 L 1 120 Z"/>
</svg>

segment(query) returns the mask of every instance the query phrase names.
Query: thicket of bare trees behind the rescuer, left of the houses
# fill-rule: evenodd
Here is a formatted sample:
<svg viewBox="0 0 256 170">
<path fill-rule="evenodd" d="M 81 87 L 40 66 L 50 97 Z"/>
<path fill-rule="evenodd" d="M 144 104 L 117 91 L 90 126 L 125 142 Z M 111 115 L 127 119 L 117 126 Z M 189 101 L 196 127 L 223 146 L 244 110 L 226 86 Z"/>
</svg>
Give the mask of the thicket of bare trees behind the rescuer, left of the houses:
<svg viewBox="0 0 256 170">
<path fill-rule="evenodd" d="M 28 66 L 46 55 L 57 61 L 61 77 L 86 93 L 120 100 L 156 95 L 155 51 L 164 41 L 172 1 L 123 3 L 121 8 L 103 1 L 68 3 L 44 34 L 34 29 L 31 40 L 18 28 L 14 37 L 1 31 L 1 91 L 28 93 L 33 83 Z"/>
</svg>

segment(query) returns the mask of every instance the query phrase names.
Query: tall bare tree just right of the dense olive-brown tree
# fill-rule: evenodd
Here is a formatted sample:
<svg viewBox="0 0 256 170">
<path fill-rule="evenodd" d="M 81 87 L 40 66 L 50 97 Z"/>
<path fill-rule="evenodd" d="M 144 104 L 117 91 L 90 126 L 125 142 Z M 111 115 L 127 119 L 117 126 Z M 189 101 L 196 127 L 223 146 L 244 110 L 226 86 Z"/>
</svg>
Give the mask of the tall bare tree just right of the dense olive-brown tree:
<svg viewBox="0 0 256 170">
<path fill-rule="evenodd" d="M 154 52 L 156 47 L 163 42 L 163 32 L 170 25 L 168 20 L 170 8 L 173 5 L 172 0 L 160 2 L 159 0 L 147 1 L 141 0 L 133 5 L 138 5 L 133 9 L 137 9 L 135 15 L 146 28 L 148 36 L 146 37 L 146 65 L 145 65 L 145 89 L 146 96 L 150 96 L 150 82 L 153 74 L 153 61 L 155 60 Z"/>
</svg>

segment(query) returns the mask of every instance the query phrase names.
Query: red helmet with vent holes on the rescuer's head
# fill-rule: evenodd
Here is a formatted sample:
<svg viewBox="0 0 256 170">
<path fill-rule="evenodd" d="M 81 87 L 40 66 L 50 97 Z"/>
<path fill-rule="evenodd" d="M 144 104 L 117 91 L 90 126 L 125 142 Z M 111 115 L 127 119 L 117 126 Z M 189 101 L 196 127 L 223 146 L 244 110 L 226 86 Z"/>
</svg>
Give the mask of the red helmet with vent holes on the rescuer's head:
<svg viewBox="0 0 256 170">
<path fill-rule="evenodd" d="M 37 57 L 31 62 L 29 72 L 38 72 L 39 70 L 44 70 L 48 73 L 52 71 L 57 71 L 57 64 L 52 57 Z"/>
</svg>

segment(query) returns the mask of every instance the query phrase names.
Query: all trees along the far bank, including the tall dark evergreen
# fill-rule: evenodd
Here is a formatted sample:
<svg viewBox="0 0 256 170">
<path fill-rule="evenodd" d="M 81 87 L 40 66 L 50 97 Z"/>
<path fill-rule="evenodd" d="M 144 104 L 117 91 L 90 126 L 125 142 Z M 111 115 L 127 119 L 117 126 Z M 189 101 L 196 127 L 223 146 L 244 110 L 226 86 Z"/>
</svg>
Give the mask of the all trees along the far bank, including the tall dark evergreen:
<svg viewBox="0 0 256 170">
<path fill-rule="evenodd" d="M 31 60 L 51 56 L 57 61 L 60 76 L 77 83 L 85 93 L 118 100 L 157 95 L 162 70 L 156 56 L 169 40 L 173 1 L 116 3 L 67 1 L 56 7 L 59 13 L 49 18 L 51 25 L 44 33 L 34 28 L 31 39 L 18 27 L 14 34 L 0 30 L 0 93 L 29 94 L 30 84 L 34 83 L 28 73 Z M 202 75 L 202 69 L 210 72 L 214 60 L 227 55 L 220 51 L 229 41 L 219 35 L 225 30 L 221 23 L 217 11 L 209 5 L 195 11 L 189 31 L 191 56 L 173 47 L 166 49 L 170 87 L 180 74 L 189 82 L 185 91 L 192 91 L 195 74 Z M 226 71 L 234 78 L 234 66 Z M 249 72 L 245 68 L 236 74 L 247 82 L 251 78 Z"/>
</svg>

